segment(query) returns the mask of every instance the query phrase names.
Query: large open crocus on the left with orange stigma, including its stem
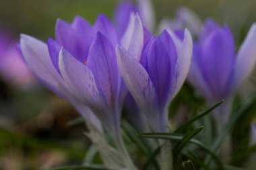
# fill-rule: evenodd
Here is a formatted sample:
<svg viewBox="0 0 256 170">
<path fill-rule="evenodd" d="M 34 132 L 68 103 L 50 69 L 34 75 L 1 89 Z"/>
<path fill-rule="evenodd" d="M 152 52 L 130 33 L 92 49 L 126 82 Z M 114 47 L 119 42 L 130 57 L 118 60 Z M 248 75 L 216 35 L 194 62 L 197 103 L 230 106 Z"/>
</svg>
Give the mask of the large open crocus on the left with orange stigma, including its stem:
<svg viewBox="0 0 256 170">
<path fill-rule="evenodd" d="M 104 15 L 99 15 L 93 26 L 82 17 L 75 17 L 72 24 L 59 19 L 56 40 L 49 38 L 48 46 L 26 35 L 21 36 L 20 42 L 28 67 L 47 87 L 67 99 L 92 125 L 92 131 L 96 128 L 102 132 L 102 124 L 121 152 L 119 164 L 130 169 L 135 167 L 123 146 L 119 127 L 127 89 L 117 69 L 115 46 L 124 44 L 132 54 L 140 56 L 143 27 L 138 15 L 133 17 L 133 22 L 120 40 Z M 98 144 L 102 148 L 104 141 Z M 106 151 L 103 147 L 102 155 L 105 154 L 109 164 L 114 157 L 106 155 Z M 111 166 L 108 165 L 121 168 Z"/>
</svg>

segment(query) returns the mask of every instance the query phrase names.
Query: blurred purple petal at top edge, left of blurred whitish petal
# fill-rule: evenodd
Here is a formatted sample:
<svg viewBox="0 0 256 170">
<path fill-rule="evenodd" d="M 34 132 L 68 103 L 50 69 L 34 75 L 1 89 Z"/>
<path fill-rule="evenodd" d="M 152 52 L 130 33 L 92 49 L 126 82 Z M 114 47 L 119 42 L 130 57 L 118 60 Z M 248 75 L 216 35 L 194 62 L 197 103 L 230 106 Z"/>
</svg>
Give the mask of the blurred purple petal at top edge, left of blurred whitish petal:
<svg viewBox="0 0 256 170">
<path fill-rule="evenodd" d="M 130 18 L 131 13 L 136 13 L 137 9 L 135 5 L 129 2 L 122 1 L 119 3 L 114 17 L 115 17 L 115 22 L 117 25 L 117 32 L 119 37 L 121 38 L 125 31 L 127 30 L 127 26 L 129 22 L 127 22 L 127 18 Z M 125 18 L 125 19 L 124 19 Z"/>
</svg>

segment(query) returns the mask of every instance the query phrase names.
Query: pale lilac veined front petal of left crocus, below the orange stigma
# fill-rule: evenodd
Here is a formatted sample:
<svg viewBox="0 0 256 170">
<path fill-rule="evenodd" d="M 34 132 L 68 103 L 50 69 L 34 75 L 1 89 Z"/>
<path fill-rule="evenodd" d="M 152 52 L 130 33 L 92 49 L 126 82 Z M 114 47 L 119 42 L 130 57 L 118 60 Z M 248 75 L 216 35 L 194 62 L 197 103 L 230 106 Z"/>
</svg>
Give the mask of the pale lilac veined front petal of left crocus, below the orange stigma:
<svg viewBox="0 0 256 170">
<path fill-rule="evenodd" d="M 104 100 L 98 91 L 92 71 L 64 48 L 59 52 L 59 69 L 77 98 L 83 99 L 86 104 L 94 108 L 94 111 L 102 109 Z"/>
</svg>

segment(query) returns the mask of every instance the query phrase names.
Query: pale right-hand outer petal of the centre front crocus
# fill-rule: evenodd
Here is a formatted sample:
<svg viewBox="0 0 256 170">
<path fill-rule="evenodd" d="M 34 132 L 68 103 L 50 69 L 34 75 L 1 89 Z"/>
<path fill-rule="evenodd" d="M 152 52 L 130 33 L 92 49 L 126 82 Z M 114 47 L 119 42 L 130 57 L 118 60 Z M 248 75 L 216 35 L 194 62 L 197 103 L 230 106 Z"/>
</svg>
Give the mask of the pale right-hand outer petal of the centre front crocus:
<svg viewBox="0 0 256 170">
<path fill-rule="evenodd" d="M 177 55 L 178 55 L 177 65 L 176 65 L 177 83 L 175 85 L 176 87 L 174 87 L 174 91 L 171 97 L 171 99 L 173 99 L 173 97 L 177 95 L 177 93 L 181 89 L 187 77 L 187 74 L 189 73 L 192 52 L 193 52 L 193 40 L 189 30 L 187 29 L 185 29 L 183 42 L 181 42 L 181 40 L 179 40 L 176 36 L 174 37 L 174 34 L 172 34 L 171 36 L 177 48 Z"/>
</svg>

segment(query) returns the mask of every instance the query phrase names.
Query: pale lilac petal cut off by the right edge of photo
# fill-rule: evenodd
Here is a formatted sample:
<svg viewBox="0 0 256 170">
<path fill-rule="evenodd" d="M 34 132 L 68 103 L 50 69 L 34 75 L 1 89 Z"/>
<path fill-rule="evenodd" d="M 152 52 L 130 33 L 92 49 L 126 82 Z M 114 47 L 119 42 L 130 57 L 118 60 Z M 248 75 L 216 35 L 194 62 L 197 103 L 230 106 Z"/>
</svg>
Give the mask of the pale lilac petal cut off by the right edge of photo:
<svg viewBox="0 0 256 170">
<path fill-rule="evenodd" d="M 249 77 L 256 62 L 256 24 L 251 26 L 247 37 L 238 51 L 234 73 L 234 88 Z"/>
</svg>

